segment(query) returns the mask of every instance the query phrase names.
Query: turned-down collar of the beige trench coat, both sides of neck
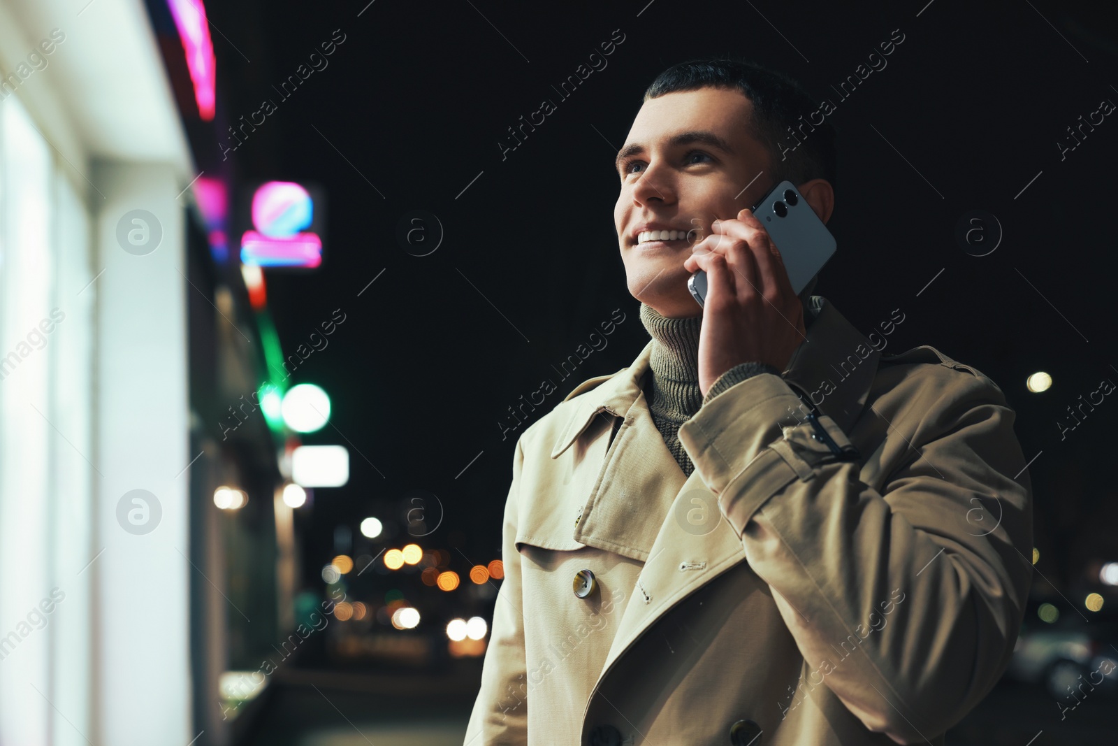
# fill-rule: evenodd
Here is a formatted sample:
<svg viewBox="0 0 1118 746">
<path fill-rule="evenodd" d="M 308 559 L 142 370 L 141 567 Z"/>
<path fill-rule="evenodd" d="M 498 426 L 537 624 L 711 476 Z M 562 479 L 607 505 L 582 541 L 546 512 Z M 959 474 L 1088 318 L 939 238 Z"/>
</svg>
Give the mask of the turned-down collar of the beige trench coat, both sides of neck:
<svg viewBox="0 0 1118 746">
<path fill-rule="evenodd" d="M 835 424 L 850 432 L 869 397 L 881 352 L 822 295 L 812 295 L 815 320 L 807 329 L 783 372 L 784 380 L 811 398 Z M 563 402 L 582 396 L 556 440 L 551 457 L 570 447 L 590 421 L 601 412 L 624 417 L 641 394 L 641 380 L 648 370 L 653 342 L 650 340 L 628 368 L 582 381 Z M 806 410 L 806 409 L 805 409 Z"/>
</svg>

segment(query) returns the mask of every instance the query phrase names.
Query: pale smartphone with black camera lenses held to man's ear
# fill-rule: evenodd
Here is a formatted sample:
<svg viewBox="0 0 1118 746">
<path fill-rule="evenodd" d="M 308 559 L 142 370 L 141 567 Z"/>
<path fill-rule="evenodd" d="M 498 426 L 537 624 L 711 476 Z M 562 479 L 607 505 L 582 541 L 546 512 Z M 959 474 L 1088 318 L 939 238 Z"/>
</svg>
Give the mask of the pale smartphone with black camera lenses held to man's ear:
<svg viewBox="0 0 1118 746">
<path fill-rule="evenodd" d="M 798 295 L 834 255 L 835 237 L 790 181 L 773 187 L 754 206 L 754 215 L 780 252 L 792 290 Z M 691 275 L 688 290 L 702 306 L 707 299 L 707 273 L 700 270 Z"/>
</svg>

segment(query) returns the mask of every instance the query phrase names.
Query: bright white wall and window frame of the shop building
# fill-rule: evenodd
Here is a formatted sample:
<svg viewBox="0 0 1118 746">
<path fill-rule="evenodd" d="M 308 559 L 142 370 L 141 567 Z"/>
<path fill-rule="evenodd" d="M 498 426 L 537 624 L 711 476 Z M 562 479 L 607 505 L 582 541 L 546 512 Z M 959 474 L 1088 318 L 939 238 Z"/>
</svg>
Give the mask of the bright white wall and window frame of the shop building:
<svg viewBox="0 0 1118 746">
<path fill-rule="evenodd" d="M 142 3 L 0 4 L 0 744 L 198 735 L 187 153 Z"/>
</svg>

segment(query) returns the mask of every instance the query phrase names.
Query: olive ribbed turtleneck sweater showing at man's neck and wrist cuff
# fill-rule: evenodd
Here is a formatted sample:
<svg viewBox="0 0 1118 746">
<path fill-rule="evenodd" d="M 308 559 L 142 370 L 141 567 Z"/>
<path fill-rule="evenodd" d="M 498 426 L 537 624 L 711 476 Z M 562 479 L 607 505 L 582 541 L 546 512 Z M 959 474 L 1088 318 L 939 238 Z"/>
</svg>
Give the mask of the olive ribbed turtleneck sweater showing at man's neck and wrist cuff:
<svg viewBox="0 0 1118 746">
<path fill-rule="evenodd" d="M 688 476 L 694 471 L 691 457 L 680 443 L 680 426 L 693 417 L 712 398 L 759 372 L 779 376 L 781 371 L 764 362 L 743 362 L 722 374 L 707 391 L 699 389 L 699 330 L 702 315 L 667 319 L 655 309 L 641 303 L 641 323 L 652 337 L 648 360 L 651 375 L 644 379 L 644 395 L 656 429 Z"/>
</svg>

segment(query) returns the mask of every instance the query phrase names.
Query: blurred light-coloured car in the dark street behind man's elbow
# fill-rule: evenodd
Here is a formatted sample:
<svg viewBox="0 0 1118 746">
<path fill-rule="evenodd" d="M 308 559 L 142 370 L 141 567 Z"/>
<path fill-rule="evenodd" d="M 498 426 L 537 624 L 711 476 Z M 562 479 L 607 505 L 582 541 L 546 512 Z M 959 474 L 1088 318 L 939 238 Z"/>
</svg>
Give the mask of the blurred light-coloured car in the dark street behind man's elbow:
<svg viewBox="0 0 1118 746">
<path fill-rule="evenodd" d="M 1060 597 L 1030 598 L 1005 676 L 1041 684 L 1058 700 L 1116 696 L 1118 614 L 1072 608 Z"/>
</svg>

